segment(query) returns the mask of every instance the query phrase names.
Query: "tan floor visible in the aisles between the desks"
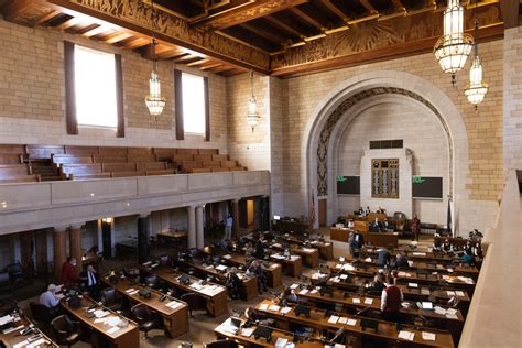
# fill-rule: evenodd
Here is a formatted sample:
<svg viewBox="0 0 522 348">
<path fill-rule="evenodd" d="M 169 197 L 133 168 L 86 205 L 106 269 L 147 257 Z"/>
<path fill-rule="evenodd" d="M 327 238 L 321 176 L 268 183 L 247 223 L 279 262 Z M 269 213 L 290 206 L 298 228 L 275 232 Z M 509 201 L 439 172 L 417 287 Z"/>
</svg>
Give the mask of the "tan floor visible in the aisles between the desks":
<svg viewBox="0 0 522 348">
<path fill-rule="evenodd" d="M 325 237 L 329 237 L 329 229 L 324 229 L 322 231 Z M 410 240 L 400 240 L 400 244 L 409 244 Z M 433 243 L 433 239 L 429 236 L 421 236 L 421 241 L 418 242 L 418 248 L 424 249 L 427 248 Z M 164 250 L 159 250 L 159 252 L 163 252 Z M 342 242 L 334 242 L 334 255 L 336 258 L 340 255 L 346 255 L 348 253 L 348 244 Z M 108 261 L 105 261 L 108 262 Z M 112 261 L 117 263 L 124 263 L 124 261 Z M 106 264 L 106 267 L 108 267 Z M 112 267 L 112 265 L 111 265 Z M 305 273 L 312 272 L 311 269 L 304 269 Z M 283 276 L 283 284 L 291 285 L 294 282 L 293 278 Z M 284 285 L 275 289 L 274 291 L 282 291 Z M 254 306 L 264 297 L 269 297 L 270 293 L 264 293 L 262 296 L 254 298 L 250 302 L 246 302 L 242 300 L 235 300 L 229 301 L 229 314 L 233 314 L 235 312 L 243 312 L 248 306 Z M 26 301 L 20 302 L 20 306 L 29 307 L 30 301 L 37 301 L 36 297 L 29 298 Z M 29 311 L 28 311 L 29 313 Z M 221 324 L 228 316 L 224 315 L 222 317 L 211 318 L 207 316 L 203 312 L 195 312 L 195 316 L 189 319 L 189 333 L 174 339 L 170 339 L 163 335 L 162 330 L 151 330 L 149 333 L 149 338 L 144 338 L 143 334 L 140 333 L 140 347 L 177 347 L 183 341 L 192 341 L 194 347 L 203 347 L 204 342 L 209 342 L 215 340 L 214 328 Z M 78 342 L 74 345 L 74 347 L 89 347 L 86 342 Z M 129 347 L 131 348 L 131 347 Z"/>
</svg>

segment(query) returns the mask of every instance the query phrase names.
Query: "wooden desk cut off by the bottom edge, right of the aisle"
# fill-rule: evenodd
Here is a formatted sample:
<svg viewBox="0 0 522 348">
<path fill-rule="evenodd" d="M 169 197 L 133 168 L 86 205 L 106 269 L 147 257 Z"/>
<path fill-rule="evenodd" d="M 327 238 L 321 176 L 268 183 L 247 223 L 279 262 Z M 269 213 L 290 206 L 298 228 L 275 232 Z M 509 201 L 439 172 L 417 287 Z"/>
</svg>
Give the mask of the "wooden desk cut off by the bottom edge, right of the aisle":
<svg viewBox="0 0 522 348">
<path fill-rule="evenodd" d="M 247 348 L 250 348 L 250 347 L 274 347 L 274 342 L 278 340 L 278 338 L 287 339 L 289 342 L 291 342 L 292 338 L 293 338 L 292 333 L 283 331 L 283 330 L 278 329 L 278 328 L 273 328 L 272 340 L 270 342 L 267 342 L 264 338 L 255 339 L 253 336 L 247 337 L 247 336 L 241 335 L 241 333 L 233 334 L 233 333 L 225 330 L 222 328 L 222 325 L 225 323 L 227 323 L 227 320 L 225 320 L 221 325 L 219 325 L 218 327 L 216 327 L 214 329 L 214 333 L 216 334 L 216 337 L 218 339 L 228 338 L 228 339 L 238 341 Z M 252 325 L 251 327 L 255 328 L 254 325 Z M 322 344 L 318 339 L 295 344 L 295 348 L 323 348 L 323 347 L 324 347 L 324 344 Z"/>
</svg>

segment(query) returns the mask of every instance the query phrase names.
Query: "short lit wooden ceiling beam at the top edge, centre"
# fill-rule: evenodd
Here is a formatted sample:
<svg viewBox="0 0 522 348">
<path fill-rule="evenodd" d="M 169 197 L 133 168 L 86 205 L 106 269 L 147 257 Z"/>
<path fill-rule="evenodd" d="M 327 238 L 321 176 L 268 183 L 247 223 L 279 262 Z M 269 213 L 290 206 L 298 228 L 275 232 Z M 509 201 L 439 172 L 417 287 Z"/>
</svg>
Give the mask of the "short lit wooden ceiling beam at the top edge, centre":
<svg viewBox="0 0 522 348">
<path fill-rule="evenodd" d="M 221 30 L 232 25 L 241 24 L 267 14 L 286 10 L 308 0 L 258 0 L 230 11 L 210 14 L 204 19 L 191 22 L 193 25 L 204 26 L 208 30 Z"/>
</svg>

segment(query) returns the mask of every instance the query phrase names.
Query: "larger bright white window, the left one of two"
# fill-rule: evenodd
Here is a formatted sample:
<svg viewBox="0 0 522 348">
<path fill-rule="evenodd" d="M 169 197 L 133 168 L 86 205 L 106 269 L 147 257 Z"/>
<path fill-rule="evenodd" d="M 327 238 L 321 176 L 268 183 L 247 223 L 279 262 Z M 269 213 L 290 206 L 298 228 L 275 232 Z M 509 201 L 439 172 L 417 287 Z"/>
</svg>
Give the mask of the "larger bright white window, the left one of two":
<svg viewBox="0 0 522 348">
<path fill-rule="evenodd" d="M 113 54 L 76 45 L 74 50 L 76 119 L 79 126 L 118 126 Z"/>
</svg>

